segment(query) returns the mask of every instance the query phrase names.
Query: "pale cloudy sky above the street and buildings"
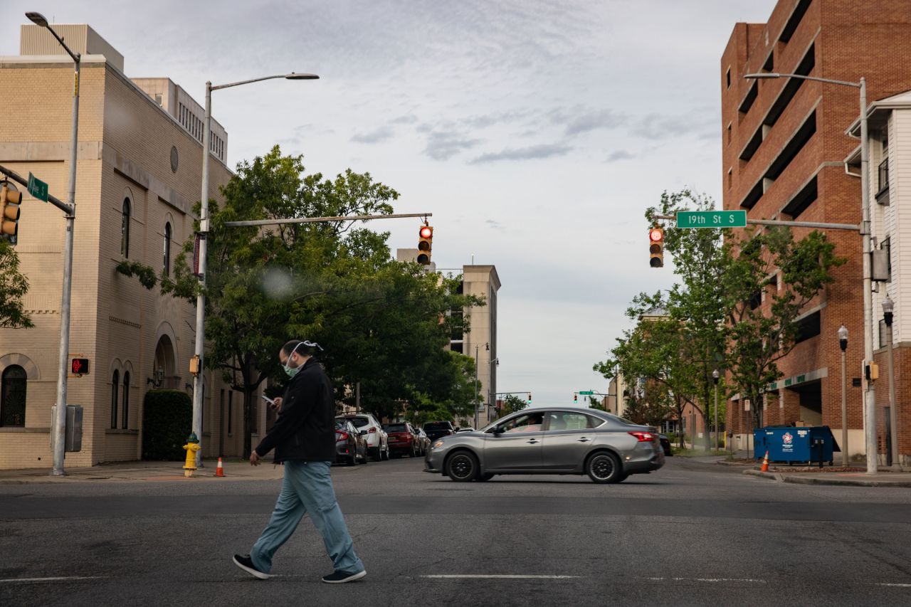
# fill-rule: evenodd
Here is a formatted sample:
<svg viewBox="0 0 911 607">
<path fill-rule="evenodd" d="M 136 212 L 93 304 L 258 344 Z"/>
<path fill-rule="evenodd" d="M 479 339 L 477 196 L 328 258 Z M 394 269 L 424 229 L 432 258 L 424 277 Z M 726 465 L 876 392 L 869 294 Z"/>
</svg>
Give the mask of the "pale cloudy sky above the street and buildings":
<svg viewBox="0 0 911 607">
<path fill-rule="evenodd" d="M 642 291 L 645 210 L 691 188 L 721 203 L 721 67 L 737 22 L 773 0 L 5 0 L 0 56 L 26 11 L 87 23 L 128 77 L 216 91 L 235 166 L 281 145 L 308 172 L 370 172 L 396 212 L 430 212 L 437 268 L 494 264 L 497 389 L 535 404 L 607 392 L 591 367 Z M 17 18 L 16 15 L 23 15 Z M 382 225 L 380 225 L 382 224 Z M 420 220 L 377 221 L 414 248 Z M 482 360 L 483 362 L 483 360 Z"/>
</svg>

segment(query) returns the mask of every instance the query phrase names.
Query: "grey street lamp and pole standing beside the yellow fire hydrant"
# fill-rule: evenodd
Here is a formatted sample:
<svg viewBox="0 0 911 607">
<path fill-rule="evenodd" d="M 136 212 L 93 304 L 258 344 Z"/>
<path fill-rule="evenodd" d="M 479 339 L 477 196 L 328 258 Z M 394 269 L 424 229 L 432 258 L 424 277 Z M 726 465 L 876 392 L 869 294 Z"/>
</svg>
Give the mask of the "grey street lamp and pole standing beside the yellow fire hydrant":
<svg viewBox="0 0 911 607">
<path fill-rule="evenodd" d="M 212 91 L 221 88 L 240 87 L 241 85 L 260 82 L 261 80 L 271 80 L 274 78 L 285 78 L 286 80 L 316 80 L 319 78 L 316 74 L 279 74 L 277 76 L 264 76 L 252 78 L 251 80 L 241 80 L 240 82 L 230 82 L 228 84 L 212 86 L 211 81 L 206 82 L 206 117 L 203 120 L 202 128 L 202 189 L 200 194 L 200 258 L 199 258 L 199 282 L 200 293 L 196 296 L 196 347 L 195 354 L 199 360 L 199 371 L 193 376 L 193 432 L 202 441 L 202 359 L 203 346 L 206 341 L 206 234 L 209 233 L 209 139 L 212 121 Z M 196 466 L 202 465 L 202 449 L 196 452 Z"/>
</svg>

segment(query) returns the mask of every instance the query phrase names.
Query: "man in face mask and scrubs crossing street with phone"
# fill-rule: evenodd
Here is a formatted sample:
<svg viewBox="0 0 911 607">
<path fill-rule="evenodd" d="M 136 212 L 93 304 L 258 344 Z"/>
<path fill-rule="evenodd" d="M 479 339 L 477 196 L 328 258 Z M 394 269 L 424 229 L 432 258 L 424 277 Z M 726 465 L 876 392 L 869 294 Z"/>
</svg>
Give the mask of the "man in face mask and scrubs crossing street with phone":
<svg viewBox="0 0 911 607">
<path fill-rule="evenodd" d="M 275 463 L 284 463 L 284 479 L 266 529 L 250 555 L 234 555 L 234 564 L 254 577 L 270 577 L 272 556 L 291 538 L 303 515 L 309 514 L 322 535 L 335 571 L 326 583 L 360 580 L 367 574 L 354 554 L 342 510 L 335 500 L 329 468 L 335 458 L 335 403 L 329 377 L 312 357 L 320 345 L 292 340 L 279 358 L 291 381 L 284 396 L 275 399 L 279 416 L 250 455 L 252 466 L 275 449 Z"/>
</svg>

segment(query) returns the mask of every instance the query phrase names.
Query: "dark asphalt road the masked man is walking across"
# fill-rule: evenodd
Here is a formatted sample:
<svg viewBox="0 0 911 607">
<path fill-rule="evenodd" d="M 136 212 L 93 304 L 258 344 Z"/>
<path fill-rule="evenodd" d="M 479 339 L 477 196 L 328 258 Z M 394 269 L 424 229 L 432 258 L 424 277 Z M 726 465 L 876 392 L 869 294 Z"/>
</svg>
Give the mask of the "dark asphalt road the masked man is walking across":
<svg viewBox="0 0 911 607">
<path fill-rule="evenodd" d="M 911 604 L 911 489 L 785 485 L 670 458 L 461 484 L 421 460 L 333 468 L 367 567 L 330 586 L 308 520 L 258 581 L 230 563 L 275 481 L 0 486 L 0 605 Z"/>
</svg>

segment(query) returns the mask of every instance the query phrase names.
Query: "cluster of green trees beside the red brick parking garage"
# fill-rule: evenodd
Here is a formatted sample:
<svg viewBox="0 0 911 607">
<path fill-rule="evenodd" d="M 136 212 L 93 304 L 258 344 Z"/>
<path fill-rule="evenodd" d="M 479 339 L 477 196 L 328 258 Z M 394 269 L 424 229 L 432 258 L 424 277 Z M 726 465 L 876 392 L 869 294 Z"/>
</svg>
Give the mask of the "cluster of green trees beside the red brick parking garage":
<svg viewBox="0 0 911 607">
<path fill-rule="evenodd" d="M 711 199 L 689 190 L 665 192 L 646 218 L 656 224 L 657 215 L 713 208 Z M 764 386 L 782 375 L 775 363 L 793 349 L 797 318 L 832 283 L 831 269 L 844 260 L 818 231 L 795 242 L 787 229 L 747 230 L 737 239 L 731 230 L 664 227 L 665 249 L 674 257 L 680 282 L 666 296 L 634 298 L 627 315 L 637 324 L 594 368 L 606 377 L 619 373 L 637 386 L 630 398 L 632 415 L 653 417 L 669 406 L 680 418 L 689 403 L 710 426 L 712 371 L 721 371 L 722 378 L 726 371 L 730 388 L 755 403 L 758 426 Z M 722 399 L 728 389 L 722 379 Z M 708 446 L 708 433 L 705 441 Z"/>
</svg>

